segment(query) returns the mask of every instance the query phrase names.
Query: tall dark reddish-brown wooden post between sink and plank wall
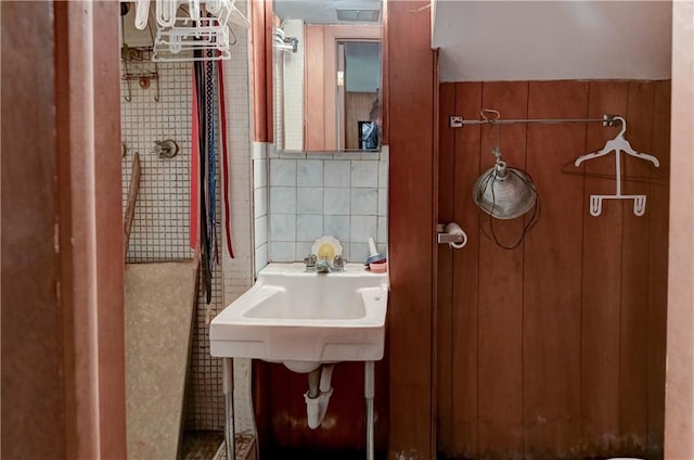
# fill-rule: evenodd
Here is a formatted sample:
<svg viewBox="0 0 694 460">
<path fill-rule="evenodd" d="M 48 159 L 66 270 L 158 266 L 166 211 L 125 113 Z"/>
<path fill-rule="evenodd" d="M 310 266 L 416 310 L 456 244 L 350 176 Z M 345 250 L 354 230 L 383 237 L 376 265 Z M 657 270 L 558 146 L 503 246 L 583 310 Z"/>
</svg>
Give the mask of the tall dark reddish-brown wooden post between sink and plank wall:
<svg viewBox="0 0 694 460">
<path fill-rule="evenodd" d="M 432 419 L 435 82 L 427 4 L 393 0 L 387 4 L 391 350 L 388 456 L 393 459 L 435 455 Z"/>
</svg>

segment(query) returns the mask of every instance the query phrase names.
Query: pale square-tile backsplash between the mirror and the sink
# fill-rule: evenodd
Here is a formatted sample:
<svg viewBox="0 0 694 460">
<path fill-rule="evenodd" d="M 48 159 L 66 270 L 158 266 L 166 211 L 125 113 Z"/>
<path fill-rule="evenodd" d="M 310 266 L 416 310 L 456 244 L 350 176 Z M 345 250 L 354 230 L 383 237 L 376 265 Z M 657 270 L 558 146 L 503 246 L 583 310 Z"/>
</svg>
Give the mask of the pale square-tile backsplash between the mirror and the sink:
<svg viewBox="0 0 694 460">
<path fill-rule="evenodd" d="M 268 260 L 303 260 L 322 235 L 339 240 L 348 261 L 367 259 L 370 237 L 386 251 L 387 146 L 381 153 L 270 152 L 254 163 L 267 182 L 255 189 L 256 253 L 267 241 Z"/>
</svg>

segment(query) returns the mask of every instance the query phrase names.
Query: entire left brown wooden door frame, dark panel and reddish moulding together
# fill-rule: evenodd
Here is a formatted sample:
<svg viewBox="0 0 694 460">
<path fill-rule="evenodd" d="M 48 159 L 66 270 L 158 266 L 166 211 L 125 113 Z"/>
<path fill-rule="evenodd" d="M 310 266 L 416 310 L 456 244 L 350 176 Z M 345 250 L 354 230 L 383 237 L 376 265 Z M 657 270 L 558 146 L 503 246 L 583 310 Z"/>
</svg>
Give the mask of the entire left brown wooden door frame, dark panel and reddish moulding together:
<svg viewBox="0 0 694 460">
<path fill-rule="evenodd" d="M 119 4 L 1 8 L 2 455 L 125 459 Z"/>
</svg>

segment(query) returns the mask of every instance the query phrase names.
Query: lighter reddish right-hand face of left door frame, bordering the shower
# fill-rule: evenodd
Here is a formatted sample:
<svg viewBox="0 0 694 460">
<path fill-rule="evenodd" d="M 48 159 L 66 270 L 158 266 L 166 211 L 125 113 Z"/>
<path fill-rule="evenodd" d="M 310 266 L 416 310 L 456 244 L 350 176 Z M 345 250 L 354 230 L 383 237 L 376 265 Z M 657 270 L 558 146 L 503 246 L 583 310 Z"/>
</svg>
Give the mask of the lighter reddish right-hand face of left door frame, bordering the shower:
<svg viewBox="0 0 694 460">
<path fill-rule="evenodd" d="M 114 199 L 123 193 L 121 158 L 117 153 L 120 151 L 120 129 L 114 129 L 120 123 L 120 80 L 119 63 L 111 58 L 120 50 L 119 12 L 118 4 L 113 2 L 93 3 L 91 27 L 99 30 L 99 39 L 93 41 L 91 50 L 93 119 L 85 117 L 78 125 L 82 130 L 93 130 L 87 154 L 92 156 L 94 168 L 97 264 L 93 277 L 97 280 L 99 448 L 102 458 L 126 457 L 123 203 Z M 83 81 L 83 75 L 77 74 L 74 78 L 76 86 Z M 93 305 L 85 307 L 93 308 Z"/>
</svg>

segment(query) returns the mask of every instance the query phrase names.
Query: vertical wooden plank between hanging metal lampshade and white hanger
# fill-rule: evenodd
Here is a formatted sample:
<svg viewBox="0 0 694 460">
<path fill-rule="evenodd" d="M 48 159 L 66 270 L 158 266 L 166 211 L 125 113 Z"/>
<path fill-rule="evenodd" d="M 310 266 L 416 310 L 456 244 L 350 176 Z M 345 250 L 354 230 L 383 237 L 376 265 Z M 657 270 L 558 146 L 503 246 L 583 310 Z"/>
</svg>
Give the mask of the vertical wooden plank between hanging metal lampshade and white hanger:
<svg viewBox="0 0 694 460">
<path fill-rule="evenodd" d="M 529 118 L 584 118 L 588 82 L 531 82 Z M 561 101 L 561 102 L 558 102 Z M 526 452 L 567 456 L 580 439 L 580 259 L 583 189 L 562 165 L 583 152 L 586 127 L 528 127 L 528 170 L 542 217 L 524 247 L 524 425 Z"/>
</svg>

